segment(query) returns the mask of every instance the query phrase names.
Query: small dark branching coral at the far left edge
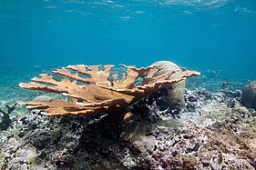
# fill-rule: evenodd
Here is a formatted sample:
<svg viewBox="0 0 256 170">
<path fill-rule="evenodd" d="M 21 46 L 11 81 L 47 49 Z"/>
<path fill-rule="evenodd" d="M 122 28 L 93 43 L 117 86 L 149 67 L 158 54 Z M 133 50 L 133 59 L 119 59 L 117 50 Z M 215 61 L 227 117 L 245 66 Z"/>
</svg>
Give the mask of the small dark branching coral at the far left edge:
<svg viewBox="0 0 256 170">
<path fill-rule="evenodd" d="M 10 114 L 15 110 L 16 106 L 17 106 L 17 104 L 5 105 L 5 107 L 7 108 L 6 111 L 4 111 L 0 108 L 0 113 L 3 114 L 3 116 L 0 116 L 2 119 L 0 122 L 0 130 L 5 130 L 9 127 L 9 125 L 11 125 Z"/>
</svg>

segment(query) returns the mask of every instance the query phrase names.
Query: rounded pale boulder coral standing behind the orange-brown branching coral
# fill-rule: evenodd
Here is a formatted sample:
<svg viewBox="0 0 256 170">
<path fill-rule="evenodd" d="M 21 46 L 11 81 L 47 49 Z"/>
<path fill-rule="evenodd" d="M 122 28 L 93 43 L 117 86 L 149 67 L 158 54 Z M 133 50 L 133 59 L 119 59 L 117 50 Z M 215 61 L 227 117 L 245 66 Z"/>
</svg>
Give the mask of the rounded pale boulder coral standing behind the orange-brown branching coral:
<svg viewBox="0 0 256 170">
<path fill-rule="evenodd" d="M 159 61 L 152 65 L 159 65 L 159 67 L 163 67 L 163 69 L 159 71 L 159 74 L 178 70 L 177 73 L 169 77 L 170 79 L 175 77 L 176 74 L 182 72 L 182 69 L 178 65 L 175 65 L 169 61 Z M 185 84 L 185 80 L 182 80 L 176 84 L 169 85 L 166 88 L 163 88 L 151 95 L 154 98 L 158 98 L 159 107 L 161 107 L 160 110 L 165 110 L 169 107 L 173 110 L 176 109 L 176 114 L 179 113 L 180 109 L 184 106 Z"/>
</svg>

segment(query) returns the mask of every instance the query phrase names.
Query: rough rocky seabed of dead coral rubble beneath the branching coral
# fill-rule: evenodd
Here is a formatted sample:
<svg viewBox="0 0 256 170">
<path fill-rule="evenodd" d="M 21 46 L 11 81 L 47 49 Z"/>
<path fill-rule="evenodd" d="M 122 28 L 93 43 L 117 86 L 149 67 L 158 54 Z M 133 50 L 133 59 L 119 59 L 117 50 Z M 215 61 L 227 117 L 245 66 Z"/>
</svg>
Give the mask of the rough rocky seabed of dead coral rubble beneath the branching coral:
<svg viewBox="0 0 256 170">
<path fill-rule="evenodd" d="M 132 105 L 127 124 L 106 115 L 48 117 L 33 110 L 0 133 L 1 169 L 255 169 L 256 114 L 241 91 L 185 91 L 177 114 L 161 96 Z"/>
</svg>

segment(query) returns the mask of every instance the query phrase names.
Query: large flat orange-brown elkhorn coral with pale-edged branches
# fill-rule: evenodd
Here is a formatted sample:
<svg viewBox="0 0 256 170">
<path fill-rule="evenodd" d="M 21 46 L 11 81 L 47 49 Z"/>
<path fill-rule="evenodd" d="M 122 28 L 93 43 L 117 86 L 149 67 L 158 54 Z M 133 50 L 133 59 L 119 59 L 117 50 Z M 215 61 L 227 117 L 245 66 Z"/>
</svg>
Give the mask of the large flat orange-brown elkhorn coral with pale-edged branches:
<svg viewBox="0 0 256 170">
<path fill-rule="evenodd" d="M 58 93 L 72 98 L 72 102 L 51 100 L 49 102 L 22 102 L 27 108 L 45 110 L 46 115 L 92 115 L 125 110 L 143 97 L 172 85 L 189 76 L 200 75 L 195 71 L 169 71 L 158 65 L 137 68 L 122 65 L 127 69 L 118 78 L 111 71 L 114 65 L 68 65 L 53 71 L 53 75 L 41 75 L 31 83 L 21 83 L 26 89 Z M 175 73 L 175 74 L 174 74 Z M 63 76 L 63 77 L 62 77 Z"/>
</svg>

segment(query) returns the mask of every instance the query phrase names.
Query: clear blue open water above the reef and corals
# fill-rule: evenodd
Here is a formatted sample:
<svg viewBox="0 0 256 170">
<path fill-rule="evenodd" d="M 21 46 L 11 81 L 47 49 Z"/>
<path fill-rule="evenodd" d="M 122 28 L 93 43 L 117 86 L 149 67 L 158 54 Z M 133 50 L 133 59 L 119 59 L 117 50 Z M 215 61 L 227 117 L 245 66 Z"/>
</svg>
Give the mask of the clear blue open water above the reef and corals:
<svg viewBox="0 0 256 170">
<path fill-rule="evenodd" d="M 256 1 L 0 1 L 2 73 L 159 60 L 255 78 Z"/>
</svg>

